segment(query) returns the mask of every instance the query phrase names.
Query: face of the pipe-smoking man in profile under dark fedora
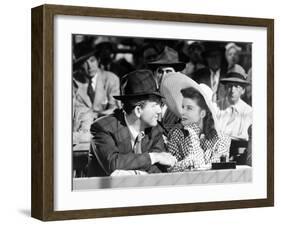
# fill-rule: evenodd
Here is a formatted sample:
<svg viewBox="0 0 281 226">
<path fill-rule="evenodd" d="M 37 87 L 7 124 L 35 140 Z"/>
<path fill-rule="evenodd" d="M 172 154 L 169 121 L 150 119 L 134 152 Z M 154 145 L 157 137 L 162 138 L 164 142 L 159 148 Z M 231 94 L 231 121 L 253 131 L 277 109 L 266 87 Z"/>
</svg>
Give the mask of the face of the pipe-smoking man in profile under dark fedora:
<svg viewBox="0 0 281 226">
<path fill-rule="evenodd" d="M 157 126 L 158 115 L 161 114 L 161 105 L 157 101 L 147 101 L 140 113 L 140 120 L 144 128 Z"/>
</svg>

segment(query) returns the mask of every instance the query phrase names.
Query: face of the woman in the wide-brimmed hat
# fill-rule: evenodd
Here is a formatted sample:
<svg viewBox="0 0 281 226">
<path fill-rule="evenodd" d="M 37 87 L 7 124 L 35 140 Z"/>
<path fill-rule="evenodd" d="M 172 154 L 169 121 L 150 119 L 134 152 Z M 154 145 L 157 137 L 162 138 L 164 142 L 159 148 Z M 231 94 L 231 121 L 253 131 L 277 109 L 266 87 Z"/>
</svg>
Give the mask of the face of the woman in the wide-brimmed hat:
<svg viewBox="0 0 281 226">
<path fill-rule="evenodd" d="M 192 123 L 197 123 L 200 125 L 203 118 L 205 117 L 205 110 L 197 104 L 196 100 L 191 98 L 183 98 L 182 101 L 182 125 L 190 125 Z"/>
</svg>

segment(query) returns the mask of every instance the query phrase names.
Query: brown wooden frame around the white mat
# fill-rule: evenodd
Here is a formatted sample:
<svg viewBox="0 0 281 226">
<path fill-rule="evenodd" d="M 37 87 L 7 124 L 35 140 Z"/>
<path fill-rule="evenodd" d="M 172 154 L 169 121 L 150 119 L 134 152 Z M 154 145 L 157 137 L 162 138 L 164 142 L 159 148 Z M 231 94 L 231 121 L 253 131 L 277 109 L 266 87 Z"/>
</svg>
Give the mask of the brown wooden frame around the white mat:
<svg viewBox="0 0 281 226">
<path fill-rule="evenodd" d="M 56 15 L 239 25 L 267 29 L 267 195 L 262 199 L 54 210 L 54 18 Z M 62 5 L 32 9 L 32 205 L 43 221 L 274 205 L 274 20 Z"/>
</svg>

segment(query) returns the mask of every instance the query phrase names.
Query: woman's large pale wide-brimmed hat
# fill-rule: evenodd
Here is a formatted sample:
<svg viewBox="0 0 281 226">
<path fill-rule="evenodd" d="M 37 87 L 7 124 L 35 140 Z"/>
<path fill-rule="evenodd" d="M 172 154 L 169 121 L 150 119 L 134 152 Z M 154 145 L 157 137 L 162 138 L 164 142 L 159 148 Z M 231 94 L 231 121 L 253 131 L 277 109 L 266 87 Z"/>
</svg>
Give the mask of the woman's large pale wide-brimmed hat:
<svg viewBox="0 0 281 226">
<path fill-rule="evenodd" d="M 183 95 L 181 93 L 181 90 L 189 87 L 195 88 L 203 96 L 213 116 L 215 128 L 217 129 L 218 127 L 215 109 L 212 103 L 213 92 L 208 86 L 204 84 L 198 84 L 197 82 L 180 72 L 169 73 L 163 78 L 160 87 L 160 93 L 164 96 L 168 108 L 175 115 L 181 118 L 183 101 Z"/>
</svg>

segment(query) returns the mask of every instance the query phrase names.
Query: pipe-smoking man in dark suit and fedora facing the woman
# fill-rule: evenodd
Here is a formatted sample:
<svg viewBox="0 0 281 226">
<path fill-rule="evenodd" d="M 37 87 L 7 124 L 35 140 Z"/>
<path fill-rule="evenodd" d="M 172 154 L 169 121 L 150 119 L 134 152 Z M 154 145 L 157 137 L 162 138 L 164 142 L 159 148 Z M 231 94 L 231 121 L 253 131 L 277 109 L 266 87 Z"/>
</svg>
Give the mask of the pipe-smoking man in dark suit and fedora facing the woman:
<svg viewBox="0 0 281 226">
<path fill-rule="evenodd" d="M 123 109 L 96 120 L 91 126 L 88 176 L 160 173 L 173 166 L 158 126 L 161 94 L 150 70 L 126 75 L 122 95 L 115 96 Z M 118 173 L 116 173 L 118 172 Z"/>
</svg>

